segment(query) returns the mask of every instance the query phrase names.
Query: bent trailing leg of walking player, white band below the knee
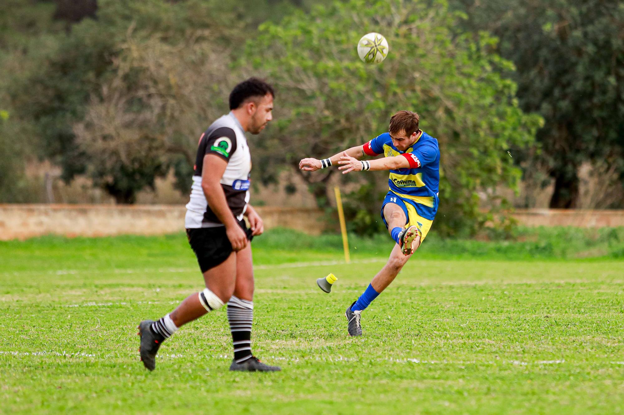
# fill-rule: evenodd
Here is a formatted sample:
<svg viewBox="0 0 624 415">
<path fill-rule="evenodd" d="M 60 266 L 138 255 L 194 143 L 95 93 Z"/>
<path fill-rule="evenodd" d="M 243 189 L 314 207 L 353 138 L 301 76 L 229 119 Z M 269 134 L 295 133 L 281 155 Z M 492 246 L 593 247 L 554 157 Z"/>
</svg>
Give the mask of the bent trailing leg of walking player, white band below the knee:
<svg viewBox="0 0 624 415">
<path fill-rule="evenodd" d="M 144 320 L 139 325 L 141 360 L 145 368 L 154 370 L 156 353 L 165 339 L 173 335 L 182 325 L 202 317 L 205 313 L 223 307 L 232 293 L 236 278 L 236 253 L 221 264 L 203 273 L 206 288 L 189 295 L 170 314 L 157 322 Z"/>
</svg>

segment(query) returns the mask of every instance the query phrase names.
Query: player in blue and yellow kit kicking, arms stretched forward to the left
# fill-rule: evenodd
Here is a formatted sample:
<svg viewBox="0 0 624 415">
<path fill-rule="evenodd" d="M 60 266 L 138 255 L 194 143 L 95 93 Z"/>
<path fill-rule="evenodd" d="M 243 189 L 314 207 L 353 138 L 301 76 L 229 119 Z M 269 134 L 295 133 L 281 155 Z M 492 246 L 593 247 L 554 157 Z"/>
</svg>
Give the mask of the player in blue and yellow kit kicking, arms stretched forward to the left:
<svg viewBox="0 0 624 415">
<path fill-rule="evenodd" d="M 381 217 L 396 242 L 386 265 L 362 295 L 346 310 L 348 332 L 362 335 L 362 311 L 381 293 L 427 237 L 439 204 L 440 150 L 437 140 L 418 128 L 418 114 L 399 111 L 390 118 L 389 132 L 368 143 L 351 147 L 324 160 L 305 158 L 299 168 L 315 171 L 340 165 L 352 171 L 389 170 L 389 191 L 381 205 Z M 379 160 L 359 160 L 384 155 Z"/>
</svg>

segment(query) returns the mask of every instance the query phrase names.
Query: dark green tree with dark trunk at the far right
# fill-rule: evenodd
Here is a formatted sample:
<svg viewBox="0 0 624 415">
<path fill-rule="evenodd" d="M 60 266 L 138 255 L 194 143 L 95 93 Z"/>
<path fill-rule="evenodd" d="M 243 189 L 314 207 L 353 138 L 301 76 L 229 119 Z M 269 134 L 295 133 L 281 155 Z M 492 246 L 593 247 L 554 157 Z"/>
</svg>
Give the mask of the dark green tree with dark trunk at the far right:
<svg viewBox="0 0 624 415">
<path fill-rule="evenodd" d="M 551 207 L 577 207 L 578 171 L 590 161 L 624 178 L 624 5 L 604 0 L 457 0 L 467 29 L 499 37 L 520 106 L 539 112 L 539 153 L 518 157 L 554 179 Z M 606 165 L 603 167 L 602 165 Z"/>
</svg>

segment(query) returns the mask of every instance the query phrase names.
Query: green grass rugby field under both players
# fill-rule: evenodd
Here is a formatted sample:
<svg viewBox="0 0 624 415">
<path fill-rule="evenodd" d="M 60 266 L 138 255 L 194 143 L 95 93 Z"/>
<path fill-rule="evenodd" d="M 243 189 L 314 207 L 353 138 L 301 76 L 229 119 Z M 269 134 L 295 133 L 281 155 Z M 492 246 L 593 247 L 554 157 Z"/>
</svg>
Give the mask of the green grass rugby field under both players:
<svg viewBox="0 0 624 415">
<path fill-rule="evenodd" d="M 273 231 L 254 241 L 255 354 L 230 373 L 224 310 L 139 362 L 135 327 L 202 287 L 183 234 L 0 242 L 2 413 L 623 413 L 622 232 L 432 238 L 346 335 L 391 249 Z M 356 249 L 357 248 L 357 249 Z M 536 259 L 537 258 L 537 259 Z M 305 264 L 307 263 L 307 264 Z M 329 295 L 315 280 L 329 272 Z"/>
</svg>

